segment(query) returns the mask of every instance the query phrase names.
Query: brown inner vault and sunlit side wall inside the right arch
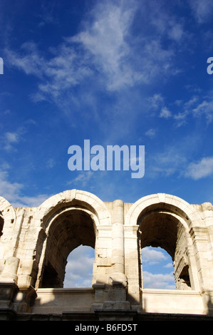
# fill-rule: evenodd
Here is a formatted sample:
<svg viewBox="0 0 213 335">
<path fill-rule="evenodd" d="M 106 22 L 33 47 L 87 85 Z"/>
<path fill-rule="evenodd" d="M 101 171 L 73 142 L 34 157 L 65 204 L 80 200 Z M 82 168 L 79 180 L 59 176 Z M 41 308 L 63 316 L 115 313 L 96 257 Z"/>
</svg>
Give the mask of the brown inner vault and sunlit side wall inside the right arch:
<svg viewBox="0 0 213 335">
<path fill-rule="evenodd" d="M 187 232 L 182 224 L 181 217 L 170 210 L 159 210 L 150 206 L 145 213 L 141 213 L 137 223 L 140 225 L 141 249 L 145 247 L 160 247 L 164 249 L 170 255 L 174 265 L 176 288 L 191 289 Z M 157 251 L 155 250 L 155 252 Z M 164 254 L 162 251 L 161 253 Z M 144 267 L 146 267 L 145 262 Z M 143 264 L 142 272 L 145 272 Z M 163 276 L 159 277 L 163 279 Z"/>
</svg>

